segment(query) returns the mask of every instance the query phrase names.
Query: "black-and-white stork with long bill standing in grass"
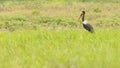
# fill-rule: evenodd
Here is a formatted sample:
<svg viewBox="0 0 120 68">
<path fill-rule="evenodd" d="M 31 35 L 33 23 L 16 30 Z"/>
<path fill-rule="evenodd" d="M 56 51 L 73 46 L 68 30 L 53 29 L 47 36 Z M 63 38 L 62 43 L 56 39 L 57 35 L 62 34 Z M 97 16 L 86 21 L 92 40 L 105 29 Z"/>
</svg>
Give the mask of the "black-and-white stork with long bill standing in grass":
<svg viewBox="0 0 120 68">
<path fill-rule="evenodd" d="M 90 25 L 87 21 L 84 21 L 85 11 L 82 11 L 82 13 L 81 13 L 80 16 L 79 16 L 79 19 L 80 19 L 81 17 L 82 17 L 83 27 L 84 27 L 87 31 L 93 33 L 93 32 L 94 32 L 94 29 L 93 29 L 92 25 Z"/>
</svg>

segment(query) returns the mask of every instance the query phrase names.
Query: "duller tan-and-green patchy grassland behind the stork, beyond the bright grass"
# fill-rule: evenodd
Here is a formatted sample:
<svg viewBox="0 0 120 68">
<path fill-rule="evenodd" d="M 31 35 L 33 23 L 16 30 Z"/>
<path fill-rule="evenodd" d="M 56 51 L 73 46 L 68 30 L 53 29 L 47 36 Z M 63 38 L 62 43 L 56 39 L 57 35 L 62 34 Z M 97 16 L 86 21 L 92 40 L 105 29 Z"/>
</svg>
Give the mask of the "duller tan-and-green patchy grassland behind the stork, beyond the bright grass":
<svg viewBox="0 0 120 68">
<path fill-rule="evenodd" d="M 73 2 L 69 4 L 50 2 L 48 4 L 38 1 L 29 1 L 27 3 L 24 1 L 8 1 L 1 4 L 0 27 L 4 29 L 6 25 L 9 25 L 8 30 L 10 31 L 11 29 L 13 31 L 21 29 L 21 27 L 34 29 L 34 27 L 39 26 L 81 28 L 78 17 L 81 11 L 85 9 L 85 19 L 95 28 L 118 29 L 120 25 L 119 6 L 119 3 Z"/>
</svg>

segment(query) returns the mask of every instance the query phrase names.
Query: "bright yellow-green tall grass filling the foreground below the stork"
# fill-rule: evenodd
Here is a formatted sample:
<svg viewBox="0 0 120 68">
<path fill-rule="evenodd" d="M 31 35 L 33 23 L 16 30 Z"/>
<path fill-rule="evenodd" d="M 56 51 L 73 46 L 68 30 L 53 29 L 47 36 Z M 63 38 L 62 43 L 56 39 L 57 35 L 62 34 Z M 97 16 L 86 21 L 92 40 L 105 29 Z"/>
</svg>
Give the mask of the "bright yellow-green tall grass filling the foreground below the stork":
<svg viewBox="0 0 120 68">
<path fill-rule="evenodd" d="M 0 33 L 1 68 L 119 68 L 120 30 Z"/>
</svg>

